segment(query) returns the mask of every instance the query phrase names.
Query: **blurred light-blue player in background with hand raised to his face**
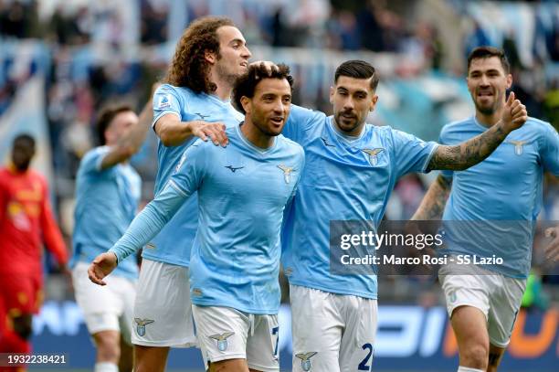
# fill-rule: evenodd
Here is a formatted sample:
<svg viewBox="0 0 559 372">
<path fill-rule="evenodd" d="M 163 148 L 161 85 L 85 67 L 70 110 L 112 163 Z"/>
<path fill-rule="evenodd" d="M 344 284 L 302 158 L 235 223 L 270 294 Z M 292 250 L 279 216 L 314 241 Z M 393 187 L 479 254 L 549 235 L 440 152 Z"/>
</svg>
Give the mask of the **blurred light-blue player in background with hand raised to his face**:
<svg viewBox="0 0 559 372">
<path fill-rule="evenodd" d="M 72 279 L 76 301 L 97 347 L 95 372 L 132 369 L 132 307 L 138 266 L 122 262 L 105 288 L 88 281 L 88 266 L 121 237 L 136 214 L 142 193 L 140 175 L 129 165 L 152 122 L 151 101 L 138 118 L 132 107 L 100 112 L 100 146 L 79 163 L 76 176 Z"/>
</svg>

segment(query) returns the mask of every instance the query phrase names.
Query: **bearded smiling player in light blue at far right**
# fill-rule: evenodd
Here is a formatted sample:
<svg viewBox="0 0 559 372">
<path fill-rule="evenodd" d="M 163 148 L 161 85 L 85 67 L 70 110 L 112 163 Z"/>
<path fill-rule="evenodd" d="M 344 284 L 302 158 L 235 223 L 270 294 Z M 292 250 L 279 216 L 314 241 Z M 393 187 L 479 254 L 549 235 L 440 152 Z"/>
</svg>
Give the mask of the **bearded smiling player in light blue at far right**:
<svg viewBox="0 0 559 372">
<path fill-rule="evenodd" d="M 508 110 L 512 75 L 502 50 L 475 48 L 468 58 L 467 81 L 476 112 L 445 125 L 441 143 L 454 145 L 488 133 Z M 559 137 L 549 123 L 528 118 L 479 165 L 441 172 L 413 217 L 442 215 L 448 254 L 504 258 L 500 265 L 472 266 L 467 272 L 453 263 L 439 271 L 459 345 L 460 372 L 496 371 L 509 344 L 530 271 L 544 171 L 559 175 Z M 469 224 L 476 231 L 467 229 Z M 556 237 L 557 228 L 547 234 Z M 547 250 L 553 255 L 557 241 Z"/>
</svg>

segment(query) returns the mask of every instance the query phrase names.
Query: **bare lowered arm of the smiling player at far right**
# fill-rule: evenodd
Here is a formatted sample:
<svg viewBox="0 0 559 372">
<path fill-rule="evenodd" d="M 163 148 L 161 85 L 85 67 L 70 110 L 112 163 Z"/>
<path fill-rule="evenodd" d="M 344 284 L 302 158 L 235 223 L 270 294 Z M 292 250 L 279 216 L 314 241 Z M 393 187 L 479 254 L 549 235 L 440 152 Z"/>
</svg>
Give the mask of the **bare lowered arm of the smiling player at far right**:
<svg viewBox="0 0 559 372">
<path fill-rule="evenodd" d="M 442 175 L 438 175 L 435 182 L 429 186 L 427 194 L 423 197 L 421 204 L 417 207 L 416 213 L 412 216 L 412 220 L 438 220 L 442 218 L 445 205 L 447 204 L 450 188 L 452 187 L 452 179 L 448 179 Z"/>
</svg>

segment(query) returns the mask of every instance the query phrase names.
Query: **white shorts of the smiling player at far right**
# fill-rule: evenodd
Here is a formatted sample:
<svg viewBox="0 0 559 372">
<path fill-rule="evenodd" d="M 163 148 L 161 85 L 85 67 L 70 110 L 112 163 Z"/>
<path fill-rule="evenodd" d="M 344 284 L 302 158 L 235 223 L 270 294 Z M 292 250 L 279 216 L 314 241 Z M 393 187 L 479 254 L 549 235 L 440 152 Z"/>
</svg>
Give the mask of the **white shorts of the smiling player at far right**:
<svg viewBox="0 0 559 372">
<path fill-rule="evenodd" d="M 472 306 L 485 315 L 491 345 L 506 347 L 512 335 L 522 295 L 526 289 L 525 279 L 515 279 L 479 266 L 468 267 L 472 274 L 452 274 L 456 263 L 449 263 L 438 271 L 447 301 L 448 316 L 459 306 Z M 463 266 L 463 265 L 460 265 Z M 464 268 L 458 268 L 463 272 Z"/>
</svg>

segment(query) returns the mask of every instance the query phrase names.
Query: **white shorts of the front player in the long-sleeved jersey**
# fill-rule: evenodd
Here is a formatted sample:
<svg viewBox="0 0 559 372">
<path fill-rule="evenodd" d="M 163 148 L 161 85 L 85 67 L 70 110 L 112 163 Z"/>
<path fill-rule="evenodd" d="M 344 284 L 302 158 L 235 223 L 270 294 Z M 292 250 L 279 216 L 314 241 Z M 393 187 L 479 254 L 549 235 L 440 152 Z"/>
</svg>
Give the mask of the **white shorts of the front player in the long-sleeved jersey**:
<svg viewBox="0 0 559 372">
<path fill-rule="evenodd" d="M 278 315 L 247 314 L 230 307 L 193 305 L 204 365 L 247 359 L 248 368 L 280 370 Z"/>
</svg>

